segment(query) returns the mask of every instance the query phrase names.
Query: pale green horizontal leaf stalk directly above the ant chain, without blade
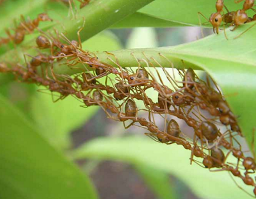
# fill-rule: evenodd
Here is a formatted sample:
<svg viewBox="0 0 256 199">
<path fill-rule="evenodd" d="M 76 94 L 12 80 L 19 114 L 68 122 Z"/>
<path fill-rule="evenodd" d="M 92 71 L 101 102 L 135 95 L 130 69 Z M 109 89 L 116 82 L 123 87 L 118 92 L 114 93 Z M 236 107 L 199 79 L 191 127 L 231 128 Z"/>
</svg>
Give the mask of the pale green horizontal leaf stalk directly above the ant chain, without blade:
<svg viewBox="0 0 256 199">
<path fill-rule="evenodd" d="M 112 52 L 95 52 L 95 55 L 102 63 L 113 65 L 118 67 L 113 61 L 118 60 L 118 64 L 123 67 L 138 67 L 139 63 L 141 67 L 167 67 L 167 68 L 188 68 L 191 67 L 196 70 L 200 70 L 200 67 L 188 61 L 181 60 L 179 56 L 175 56 L 171 52 L 166 52 L 172 49 L 170 47 L 159 47 L 154 49 L 125 49 Z M 111 54 L 110 54 L 111 53 Z M 112 54 L 115 54 L 112 55 Z M 138 63 L 139 61 L 139 63 Z M 77 74 L 86 72 L 90 67 L 86 64 L 77 64 L 74 67 L 68 67 L 64 64 L 65 61 L 54 63 L 54 72 L 56 74 Z M 86 66 L 86 67 L 84 67 Z M 87 68 L 87 69 L 86 69 Z"/>
</svg>

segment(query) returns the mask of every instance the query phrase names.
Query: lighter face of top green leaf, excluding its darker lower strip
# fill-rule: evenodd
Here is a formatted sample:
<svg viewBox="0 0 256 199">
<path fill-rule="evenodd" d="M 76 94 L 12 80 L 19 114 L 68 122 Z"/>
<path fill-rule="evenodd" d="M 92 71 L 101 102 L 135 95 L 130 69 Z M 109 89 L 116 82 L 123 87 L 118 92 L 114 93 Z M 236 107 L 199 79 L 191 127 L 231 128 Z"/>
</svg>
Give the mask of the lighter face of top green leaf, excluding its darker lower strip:
<svg viewBox="0 0 256 199">
<path fill-rule="evenodd" d="M 216 13 L 215 8 L 216 0 L 194 0 L 194 1 L 170 1 L 170 0 L 157 0 L 147 6 L 141 8 L 139 13 L 156 17 L 157 19 L 170 20 L 170 22 L 180 23 L 183 26 L 198 26 L 198 12 L 201 12 L 209 19 L 212 13 Z M 234 1 L 225 1 L 225 6 L 228 10 L 236 11 L 243 8 L 243 3 L 236 4 Z M 225 13 L 227 11 L 223 10 Z M 249 10 L 249 16 L 253 16 L 253 11 Z M 200 16 L 202 22 L 206 22 Z M 211 27 L 211 24 L 208 25 Z"/>
</svg>

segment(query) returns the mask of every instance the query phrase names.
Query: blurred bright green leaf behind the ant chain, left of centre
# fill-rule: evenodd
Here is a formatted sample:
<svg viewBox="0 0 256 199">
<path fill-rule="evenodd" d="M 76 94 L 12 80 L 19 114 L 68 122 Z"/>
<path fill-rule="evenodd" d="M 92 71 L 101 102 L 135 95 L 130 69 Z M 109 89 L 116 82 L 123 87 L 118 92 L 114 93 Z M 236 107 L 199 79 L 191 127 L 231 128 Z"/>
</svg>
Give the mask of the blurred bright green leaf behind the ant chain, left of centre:
<svg viewBox="0 0 256 199">
<path fill-rule="evenodd" d="M 44 87 L 40 89 L 45 90 Z M 31 99 L 31 115 L 45 138 L 56 148 L 71 147 L 70 132 L 81 127 L 99 109 L 92 106 L 84 109 L 83 103 L 74 97 L 58 102 L 52 101 L 51 93 L 35 93 Z M 53 94 L 54 95 L 54 94 Z M 55 97 L 58 99 L 58 97 Z"/>
</svg>

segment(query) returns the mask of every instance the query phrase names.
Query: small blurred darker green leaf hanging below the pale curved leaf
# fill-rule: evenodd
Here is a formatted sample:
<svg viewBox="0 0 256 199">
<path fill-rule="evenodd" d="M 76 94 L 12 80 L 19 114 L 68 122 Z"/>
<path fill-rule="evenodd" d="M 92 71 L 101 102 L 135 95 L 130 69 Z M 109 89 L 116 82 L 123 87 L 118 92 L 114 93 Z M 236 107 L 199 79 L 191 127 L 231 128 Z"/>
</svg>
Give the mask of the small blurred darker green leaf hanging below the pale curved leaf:
<svg viewBox="0 0 256 199">
<path fill-rule="evenodd" d="M 175 199 L 176 194 L 173 190 L 172 184 L 170 183 L 170 176 L 163 170 L 157 168 L 150 168 L 147 164 L 137 164 L 135 169 L 144 179 L 145 183 L 157 198 L 160 199 Z"/>
</svg>

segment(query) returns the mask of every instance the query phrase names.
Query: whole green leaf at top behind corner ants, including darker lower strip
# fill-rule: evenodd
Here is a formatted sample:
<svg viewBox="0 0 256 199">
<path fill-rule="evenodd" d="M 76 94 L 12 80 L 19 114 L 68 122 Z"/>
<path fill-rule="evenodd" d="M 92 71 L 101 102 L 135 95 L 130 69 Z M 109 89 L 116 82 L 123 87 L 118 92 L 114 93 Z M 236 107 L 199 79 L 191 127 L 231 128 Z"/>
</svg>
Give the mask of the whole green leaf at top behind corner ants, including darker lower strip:
<svg viewBox="0 0 256 199">
<path fill-rule="evenodd" d="M 198 12 L 209 19 L 216 12 L 215 3 L 216 0 L 156 0 L 116 23 L 113 28 L 199 26 Z M 225 1 L 225 5 L 229 11 L 243 8 L 243 3 L 236 4 L 233 0 Z M 224 12 L 227 13 L 225 8 Z M 254 15 L 252 10 L 247 13 L 251 17 Z M 207 22 L 202 15 L 200 19 L 202 24 Z M 211 27 L 211 24 L 208 22 L 204 26 Z"/>
</svg>

